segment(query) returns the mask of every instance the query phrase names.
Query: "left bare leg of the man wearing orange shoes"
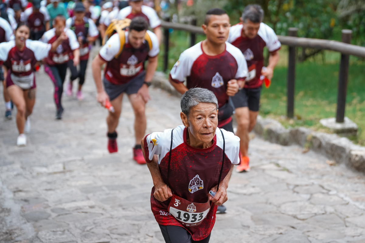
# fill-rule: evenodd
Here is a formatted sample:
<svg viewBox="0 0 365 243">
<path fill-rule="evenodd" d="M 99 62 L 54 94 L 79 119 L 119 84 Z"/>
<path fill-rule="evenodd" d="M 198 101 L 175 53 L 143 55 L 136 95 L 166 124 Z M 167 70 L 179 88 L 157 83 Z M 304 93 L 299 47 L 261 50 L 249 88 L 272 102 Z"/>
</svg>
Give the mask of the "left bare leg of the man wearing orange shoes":
<svg viewBox="0 0 365 243">
<path fill-rule="evenodd" d="M 249 126 L 250 126 L 250 112 L 249 107 L 236 108 L 236 121 L 237 121 L 237 132 L 236 136 L 239 137 L 239 150 L 242 156 L 248 156 L 249 149 Z"/>
</svg>

